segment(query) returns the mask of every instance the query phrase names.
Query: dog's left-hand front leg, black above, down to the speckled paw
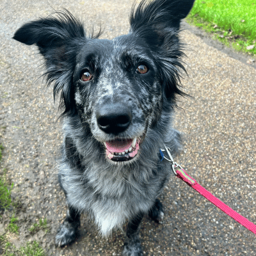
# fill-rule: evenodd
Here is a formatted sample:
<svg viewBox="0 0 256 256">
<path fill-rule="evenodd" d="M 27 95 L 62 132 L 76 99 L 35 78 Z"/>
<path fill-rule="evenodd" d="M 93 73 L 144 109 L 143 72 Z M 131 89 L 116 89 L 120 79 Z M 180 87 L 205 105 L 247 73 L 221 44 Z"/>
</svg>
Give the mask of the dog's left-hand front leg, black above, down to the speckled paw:
<svg viewBox="0 0 256 256">
<path fill-rule="evenodd" d="M 72 244 L 78 236 L 80 227 L 80 213 L 72 207 L 68 207 L 67 217 L 58 228 L 55 244 L 56 246 L 65 246 Z"/>
</svg>

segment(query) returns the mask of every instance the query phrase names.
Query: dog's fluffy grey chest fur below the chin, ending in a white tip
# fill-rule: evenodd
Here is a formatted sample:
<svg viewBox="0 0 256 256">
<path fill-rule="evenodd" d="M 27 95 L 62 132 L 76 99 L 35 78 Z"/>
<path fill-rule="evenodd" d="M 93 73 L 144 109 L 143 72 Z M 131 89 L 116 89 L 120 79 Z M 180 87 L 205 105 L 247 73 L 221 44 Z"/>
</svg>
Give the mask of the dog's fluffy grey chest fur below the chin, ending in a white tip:
<svg viewBox="0 0 256 256">
<path fill-rule="evenodd" d="M 113 228 L 122 228 L 125 221 L 136 214 L 146 213 L 154 203 L 157 189 L 136 179 L 126 180 L 113 170 L 108 172 L 93 170 L 86 173 L 86 179 L 74 178 L 72 173 L 69 182 L 63 182 L 67 188 L 68 204 L 89 212 L 103 236 L 108 236 Z"/>
</svg>

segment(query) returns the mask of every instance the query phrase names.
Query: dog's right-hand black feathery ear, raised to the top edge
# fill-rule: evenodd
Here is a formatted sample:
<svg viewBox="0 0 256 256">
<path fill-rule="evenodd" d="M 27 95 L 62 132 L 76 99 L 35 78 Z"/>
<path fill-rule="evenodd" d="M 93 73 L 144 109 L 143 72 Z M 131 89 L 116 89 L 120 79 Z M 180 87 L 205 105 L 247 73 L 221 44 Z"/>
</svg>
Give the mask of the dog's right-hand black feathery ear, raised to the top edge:
<svg viewBox="0 0 256 256">
<path fill-rule="evenodd" d="M 179 88 L 182 44 L 179 42 L 180 20 L 191 10 L 195 0 L 143 0 L 132 8 L 131 33 L 140 37 L 154 52 L 161 70 L 161 83 L 167 99 L 184 94 Z"/>
</svg>

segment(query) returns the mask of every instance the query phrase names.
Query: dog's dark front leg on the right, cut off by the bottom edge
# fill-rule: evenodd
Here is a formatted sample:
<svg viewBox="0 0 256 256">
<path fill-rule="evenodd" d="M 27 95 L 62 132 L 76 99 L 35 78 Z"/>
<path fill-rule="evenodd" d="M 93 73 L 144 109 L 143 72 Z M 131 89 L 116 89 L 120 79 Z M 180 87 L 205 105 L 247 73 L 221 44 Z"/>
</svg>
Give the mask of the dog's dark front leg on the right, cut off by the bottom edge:
<svg viewBox="0 0 256 256">
<path fill-rule="evenodd" d="M 140 223 L 143 214 L 138 214 L 128 223 L 127 237 L 124 242 L 123 256 L 141 256 L 143 255 L 140 244 Z"/>
</svg>

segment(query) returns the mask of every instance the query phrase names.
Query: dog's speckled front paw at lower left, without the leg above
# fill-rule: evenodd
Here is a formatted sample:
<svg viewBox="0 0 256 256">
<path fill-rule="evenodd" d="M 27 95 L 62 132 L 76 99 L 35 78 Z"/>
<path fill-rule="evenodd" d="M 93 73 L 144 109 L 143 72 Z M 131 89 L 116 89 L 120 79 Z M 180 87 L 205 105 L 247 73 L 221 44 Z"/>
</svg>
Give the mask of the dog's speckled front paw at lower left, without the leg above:
<svg viewBox="0 0 256 256">
<path fill-rule="evenodd" d="M 58 228 L 55 237 L 56 246 L 62 247 L 74 243 L 79 234 L 78 227 L 79 225 L 77 225 L 76 222 L 74 223 L 65 220 Z"/>
</svg>

